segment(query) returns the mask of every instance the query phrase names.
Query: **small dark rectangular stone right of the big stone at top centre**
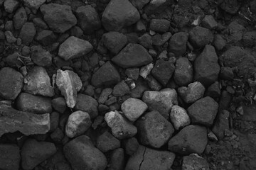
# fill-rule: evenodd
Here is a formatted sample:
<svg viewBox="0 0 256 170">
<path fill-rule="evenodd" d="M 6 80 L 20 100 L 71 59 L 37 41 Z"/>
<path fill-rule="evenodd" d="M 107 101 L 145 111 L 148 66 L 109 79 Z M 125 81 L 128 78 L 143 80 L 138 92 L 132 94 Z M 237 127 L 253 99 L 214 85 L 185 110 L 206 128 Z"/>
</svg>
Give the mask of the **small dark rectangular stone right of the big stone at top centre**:
<svg viewBox="0 0 256 170">
<path fill-rule="evenodd" d="M 166 19 L 151 19 L 149 30 L 159 33 L 166 33 L 169 30 L 170 21 Z"/>
</svg>

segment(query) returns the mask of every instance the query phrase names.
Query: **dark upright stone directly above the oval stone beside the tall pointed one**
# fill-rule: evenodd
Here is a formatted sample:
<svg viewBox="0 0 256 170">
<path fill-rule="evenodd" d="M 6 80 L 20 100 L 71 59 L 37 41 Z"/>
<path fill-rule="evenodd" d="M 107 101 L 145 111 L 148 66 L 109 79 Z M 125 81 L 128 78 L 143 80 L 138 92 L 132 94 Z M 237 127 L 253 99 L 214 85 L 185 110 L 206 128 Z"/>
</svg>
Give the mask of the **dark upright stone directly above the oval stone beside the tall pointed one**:
<svg viewBox="0 0 256 170">
<path fill-rule="evenodd" d="M 178 32 L 171 36 L 169 41 L 169 50 L 175 56 L 182 56 L 186 52 L 186 44 L 188 42 L 188 33 Z"/>
</svg>

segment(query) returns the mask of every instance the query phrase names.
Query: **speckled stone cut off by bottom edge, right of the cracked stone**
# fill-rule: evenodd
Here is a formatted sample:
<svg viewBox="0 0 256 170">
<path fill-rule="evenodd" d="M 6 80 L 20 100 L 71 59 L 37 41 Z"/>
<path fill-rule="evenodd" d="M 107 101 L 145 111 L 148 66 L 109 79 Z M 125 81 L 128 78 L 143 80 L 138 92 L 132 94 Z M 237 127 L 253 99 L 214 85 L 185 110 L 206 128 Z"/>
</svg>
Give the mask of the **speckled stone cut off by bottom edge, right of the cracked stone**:
<svg viewBox="0 0 256 170">
<path fill-rule="evenodd" d="M 190 154 L 186 157 L 183 157 L 182 170 L 190 169 L 205 169 L 210 170 L 208 162 L 203 157 L 200 157 L 198 154 Z"/>
</svg>

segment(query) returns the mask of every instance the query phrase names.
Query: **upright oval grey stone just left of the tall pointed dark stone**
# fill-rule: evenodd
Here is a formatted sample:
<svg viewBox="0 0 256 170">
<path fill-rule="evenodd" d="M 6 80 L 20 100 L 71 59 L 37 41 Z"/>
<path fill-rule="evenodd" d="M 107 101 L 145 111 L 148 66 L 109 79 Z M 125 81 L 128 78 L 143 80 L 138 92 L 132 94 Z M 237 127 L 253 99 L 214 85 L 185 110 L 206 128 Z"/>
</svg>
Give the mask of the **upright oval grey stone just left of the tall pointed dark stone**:
<svg viewBox="0 0 256 170">
<path fill-rule="evenodd" d="M 193 65 L 186 57 L 179 57 L 175 63 L 174 81 L 179 86 L 187 86 L 193 81 Z"/>
</svg>

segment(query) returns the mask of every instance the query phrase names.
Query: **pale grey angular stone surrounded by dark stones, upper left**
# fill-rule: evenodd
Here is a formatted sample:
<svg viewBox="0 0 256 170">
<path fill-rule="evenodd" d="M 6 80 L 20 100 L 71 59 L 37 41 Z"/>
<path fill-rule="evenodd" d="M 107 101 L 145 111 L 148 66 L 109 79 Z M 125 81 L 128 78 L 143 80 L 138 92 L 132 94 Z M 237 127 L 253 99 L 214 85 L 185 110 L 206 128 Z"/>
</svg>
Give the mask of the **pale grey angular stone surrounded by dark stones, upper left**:
<svg viewBox="0 0 256 170">
<path fill-rule="evenodd" d="M 82 57 L 92 49 L 92 45 L 87 40 L 82 40 L 80 38 L 71 36 L 60 45 L 58 55 L 67 61 Z"/>
</svg>

